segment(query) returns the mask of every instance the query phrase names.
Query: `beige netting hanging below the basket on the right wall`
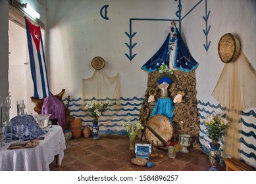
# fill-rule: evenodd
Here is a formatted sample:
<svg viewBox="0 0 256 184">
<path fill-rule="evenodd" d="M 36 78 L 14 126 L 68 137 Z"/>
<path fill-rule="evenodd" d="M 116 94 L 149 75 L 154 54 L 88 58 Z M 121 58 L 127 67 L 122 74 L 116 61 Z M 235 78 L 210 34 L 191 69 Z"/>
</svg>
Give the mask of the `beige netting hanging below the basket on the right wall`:
<svg viewBox="0 0 256 184">
<path fill-rule="evenodd" d="M 241 52 L 235 61 L 224 65 L 212 96 L 226 106 L 230 120 L 224 137 L 224 156 L 240 158 L 240 111 L 256 106 L 256 72 Z"/>
</svg>

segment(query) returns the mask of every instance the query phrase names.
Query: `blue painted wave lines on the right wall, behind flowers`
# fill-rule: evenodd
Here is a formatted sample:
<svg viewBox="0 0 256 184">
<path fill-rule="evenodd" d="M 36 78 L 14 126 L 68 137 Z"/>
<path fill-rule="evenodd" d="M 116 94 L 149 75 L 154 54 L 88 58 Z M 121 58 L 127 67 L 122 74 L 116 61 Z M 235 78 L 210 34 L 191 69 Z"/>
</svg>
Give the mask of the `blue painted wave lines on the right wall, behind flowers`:
<svg viewBox="0 0 256 184">
<path fill-rule="evenodd" d="M 207 130 L 205 129 L 205 124 L 203 120 L 213 112 L 220 114 L 225 113 L 225 110 L 229 111 L 226 107 L 221 106 L 220 104 L 211 104 L 209 102 L 197 101 L 198 115 L 199 115 L 199 142 L 201 147 L 203 147 L 205 152 L 209 152 L 209 143 L 210 139 L 207 137 Z M 240 123 L 242 123 L 242 129 L 240 129 L 240 153 L 242 154 L 242 160 L 245 162 L 253 163 L 253 166 L 256 166 L 256 113 L 254 110 L 249 110 L 249 112 L 240 112 L 241 118 Z M 223 141 L 220 143 L 223 145 Z M 222 146 L 221 146 L 222 147 Z M 220 147 L 220 151 L 222 151 Z M 249 161 L 248 161 L 249 160 Z"/>
</svg>

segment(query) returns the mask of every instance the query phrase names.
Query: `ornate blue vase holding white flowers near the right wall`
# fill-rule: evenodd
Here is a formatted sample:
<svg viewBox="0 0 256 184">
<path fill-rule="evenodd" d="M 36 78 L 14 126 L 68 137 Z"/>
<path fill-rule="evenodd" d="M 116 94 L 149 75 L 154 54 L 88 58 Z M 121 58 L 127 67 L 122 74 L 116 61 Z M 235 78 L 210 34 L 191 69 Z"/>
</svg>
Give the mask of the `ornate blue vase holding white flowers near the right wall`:
<svg viewBox="0 0 256 184">
<path fill-rule="evenodd" d="M 211 168 L 209 169 L 209 171 L 217 171 L 217 166 L 218 163 L 220 162 L 220 158 L 221 158 L 221 152 L 219 150 L 220 148 L 220 144 L 216 143 L 210 143 L 211 146 L 211 150 L 209 152 L 209 160 L 211 163 Z"/>
</svg>

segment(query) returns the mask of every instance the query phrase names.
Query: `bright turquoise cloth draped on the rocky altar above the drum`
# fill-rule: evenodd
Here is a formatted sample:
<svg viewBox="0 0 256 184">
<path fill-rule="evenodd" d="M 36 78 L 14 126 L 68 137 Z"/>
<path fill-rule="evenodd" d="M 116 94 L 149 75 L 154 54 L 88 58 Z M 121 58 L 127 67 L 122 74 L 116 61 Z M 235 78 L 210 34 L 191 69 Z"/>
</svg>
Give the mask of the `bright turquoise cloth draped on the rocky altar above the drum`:
<svg viewBox="0 0 256 184">
<path fill-rule="evenodd" d="M 155 114 L 163 114 L 170 120 L 172 124 L 173 110 L 174 110 L 174 106 L 173 106 L 172 99 L 161 98 L 161 99 L 158 99 L 157 103 L 155 104 L 151 112 L 151 116 L 154 116 Z"/>
</svg>

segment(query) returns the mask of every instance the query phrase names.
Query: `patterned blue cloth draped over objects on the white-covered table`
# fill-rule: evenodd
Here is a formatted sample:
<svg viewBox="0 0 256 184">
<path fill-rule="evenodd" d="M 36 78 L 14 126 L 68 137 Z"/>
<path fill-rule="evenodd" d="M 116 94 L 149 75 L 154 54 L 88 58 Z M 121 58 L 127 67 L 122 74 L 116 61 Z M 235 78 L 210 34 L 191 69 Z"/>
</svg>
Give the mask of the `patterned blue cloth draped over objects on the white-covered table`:
<svg viewBox="0 0 256 184">
<path fill-rule="evenodd" d="M 36 124 L 36 120 L 31 115 L 20 115 L 15 116 L 10 120 L 12 124 L 12 133 L 13 133 L 13 140 L 18 139 L 16 135 L 16 126 L 18 124 L 24 125 L 24 133 L 25 135 L 22 137 L 23 141 L 30 141 L 36 139 L 39 135 L 43 133 L 41 128 Z"/>
</svg>

